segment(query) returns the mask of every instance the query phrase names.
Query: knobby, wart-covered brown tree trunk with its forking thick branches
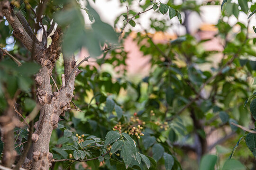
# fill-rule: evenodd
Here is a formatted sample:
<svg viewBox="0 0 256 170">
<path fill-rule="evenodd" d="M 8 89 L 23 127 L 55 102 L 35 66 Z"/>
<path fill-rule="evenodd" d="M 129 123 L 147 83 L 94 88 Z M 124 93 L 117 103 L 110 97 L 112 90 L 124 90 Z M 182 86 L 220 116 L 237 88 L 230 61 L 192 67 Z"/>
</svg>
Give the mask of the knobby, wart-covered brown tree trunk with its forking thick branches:
<svg viewBox="0 0 256 170">
<path fill-rule="evenodd" d="M 48 170 L 51 166 L 53 154 L 49 153 L 50 138 L 53 129 L 57 127 L 59 116 L 70 107 L 73 98 L 74 80 L 77 74 L 71 74 L 75 68 L 74 56 L 64 56 L 64 77 L 63 87 L 59 92 L 52 92 L 50 77 L 55 67 L 55 62 L 61 53 L 61 42 L 63 33 L 57 28 L 51 36 L 52 43 L 46 49 L 42 44 L 33 41 L 31 28 L 24 21 L 24 18 L 13 13 L 10 7 L 3 8 L 2 12 L 9 24 L 13 27 L 14 35 L 29 51 L 34 52 L 34 59 L 41 65 L 36 75 L 37 102 L 41 105 L 39 120 L 35 123 L 35 132 L 32 134 L 32 168 L 33 170 Z M 27 27 L 26 29 L 24 27 Z M 79 73 L 79 72 L 78 72 Z M 69 79 L 69 81 L 68 81 Z M 12 139 L 13 140 L 13 139 Z M 7 147 L 8 148 L 8 147 Z M 13 148 L 13 147 L 10 147 Z M 27 156 L 29 158 L 29 156 Z"/>
</svg>

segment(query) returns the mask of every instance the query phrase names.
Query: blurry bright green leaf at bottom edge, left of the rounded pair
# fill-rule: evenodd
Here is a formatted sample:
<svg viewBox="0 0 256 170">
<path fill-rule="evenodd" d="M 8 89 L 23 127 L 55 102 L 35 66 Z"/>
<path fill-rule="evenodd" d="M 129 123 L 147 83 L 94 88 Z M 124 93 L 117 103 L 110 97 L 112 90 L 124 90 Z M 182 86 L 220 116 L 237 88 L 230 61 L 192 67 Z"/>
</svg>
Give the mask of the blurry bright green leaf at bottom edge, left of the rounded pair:
<svg viewBox="0 0 256 170">
<path fill-rule="evenodd" d="M 199 170 L 214 170 L 214 166 L 217 162 L 216 155 L 206 154 L 202 157 L 200 161 L 200 168 Z"/>
</svg>

